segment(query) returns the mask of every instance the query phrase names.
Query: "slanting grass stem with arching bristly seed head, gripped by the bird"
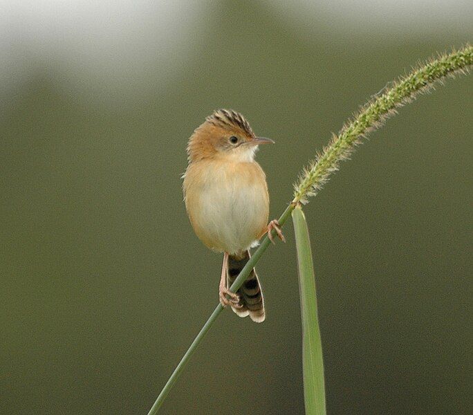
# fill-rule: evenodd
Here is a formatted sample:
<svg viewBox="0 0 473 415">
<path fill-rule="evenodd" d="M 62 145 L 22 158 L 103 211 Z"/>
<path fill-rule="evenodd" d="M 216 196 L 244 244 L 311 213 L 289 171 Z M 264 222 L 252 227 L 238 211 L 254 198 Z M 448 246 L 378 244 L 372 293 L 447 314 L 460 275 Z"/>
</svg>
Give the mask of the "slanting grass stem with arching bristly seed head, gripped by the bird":
<svg viewBox="0 0 473 415">
<path fill-rule="evenodd" d="M 287 221 L 295 205 L 307 203 L 308 196 L 313 196 L 319 191 L 322 185 L 328 180 L 328 176 L 337 170 L 340 161 L 351 154 L 353 147 L 358 143 L 360 137 L 367 136 L 370 131 L 379 128 L 388 116 L 396 112 L 397 107 L 414 100 L 418 93 L 427 91 L 429 88 L 432 88 L 433 84 L 442 82 L 449 75 L 454 75 L 458 72 L 466 72 L 472 64 L 473 47 L 467 45 L 448 55 L 442 55 L 438 57 L 438 59 L 432 59 L 427 62 L 427 64 L 414 69 L 409 75 L 395 82 L 393 86 L 384 91 L 382 95 L 379 95 L 377 98 L 374 98 L 364 105 L 353 120 L 346 123 L 345 127 L 342 128 L 337 136 L 333 136 L 331 143 L 328 147 L 324 148 L 322 154 L 319 154 L 315 161 L 310 163 L 309 167 L 299 176 L 299 181 L 295 185 L 293 202 L 288 205 L 279 218 L 281 226 Z M 269 245 L 270 241 L 268 237 L 265 237 L 259 248 L 252 255 L 250 261 L 248 261 L 239 276 L 235 279 L 235 282 L 230 287 L 230 291 L 238 291 L 241 284 L 243 284 L 246 277 L 248 277 L 250 270 L 254 268 Z M 163 387 L 153 407 L 149 410 L 148 415 L 158 413 L 158 409 L 163 405 L 167 394 L 169 394 L 171 387 L 176 382 L 179 374 L 183 371 L 190 356 L 192 356 L 192 353 L 194 353 L 198 344 L 202 341 L 205 333 L 209 331 L 216 317 L 219 317 L 222 310 L 223 308 L 220 304 L 216 306 L 214 312 L 210 315 L 209 319 L 180 360 L 176 369 L 174 369 L 171 377 L 167 380 L 165 387 Z"/>
</svg>

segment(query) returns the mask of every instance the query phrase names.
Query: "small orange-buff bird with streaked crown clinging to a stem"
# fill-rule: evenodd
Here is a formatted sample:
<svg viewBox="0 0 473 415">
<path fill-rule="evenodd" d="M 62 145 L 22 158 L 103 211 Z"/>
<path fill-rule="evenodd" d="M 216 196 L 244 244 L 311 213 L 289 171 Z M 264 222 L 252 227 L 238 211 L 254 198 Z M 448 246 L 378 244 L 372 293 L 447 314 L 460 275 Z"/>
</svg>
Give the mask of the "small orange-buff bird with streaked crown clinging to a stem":
<svg viewBox="0 0 473 415">
<path fill-rule="evenodd" d="M 205 246 L 223 252 L 219 302 L 254 322 L 266 317 L 254 268 L 236 293 L 229 288 L 264 234 L 274 243 L 274 229 L 285 241 L 279 222 L 268 223 L 266 174 L 254 160 L 259 145 L 266 144 L 274 141 L 256 136 L 241 113 L 218 109 L 190 136 L 183 174 L 185 208 L 194 232 Z"/>
</svg>

